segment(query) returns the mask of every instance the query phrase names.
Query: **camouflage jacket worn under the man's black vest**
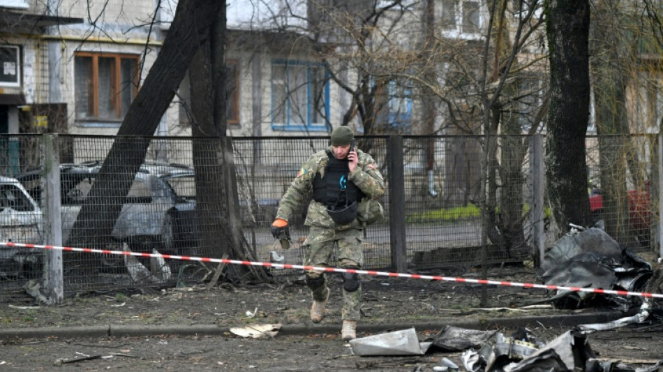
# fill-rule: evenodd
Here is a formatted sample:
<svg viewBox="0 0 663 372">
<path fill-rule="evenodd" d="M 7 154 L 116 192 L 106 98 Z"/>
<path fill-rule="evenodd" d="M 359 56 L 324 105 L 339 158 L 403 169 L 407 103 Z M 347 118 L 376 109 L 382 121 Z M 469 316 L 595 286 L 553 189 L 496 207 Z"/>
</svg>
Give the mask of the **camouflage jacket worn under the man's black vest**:
<svg viewBox="0 0 663 372">
<path fill-rule="evenodd" d="M 320 173 L 325 177 L 325 165 L 329 161 L 327 151 L 332 151 L 332 147 L 326 150 L 318 151 L 313 154 L 308 161 L 301 166 L 297 177 L 292 181 L 288 191 L 281 198 L 278 203 L 278 211 L 276 211 L 276 218 L 283 218 L 288 221 L 292 212 L 297 209 L 299 204 L 305 202 L 310 198 L 313 189 L 313 179 L 315 175 Z M 375 164 L 375 160 L 366 154 L 364 151 L 357 149 L 357 168 L 353 172 L 348 173 L 348 180 L 352 181 L 359 187 L 364 194 L 369 198 L 378 198 L 385 194 L 385 181 L 382 179 L 382 174 Z M 308 212 L 306 214 L 306 221 L 304 225 L 316 226 L 319 228 L 332 228 L 334 230 L 348 230 L 349 228 L 363 228 L 362 224 L 355 219 L 349 225 L 338 226 L 332 218 L 327 214 L 327 207 L 325 204 L 311 200 L 308 204 Z"/>
</svg>

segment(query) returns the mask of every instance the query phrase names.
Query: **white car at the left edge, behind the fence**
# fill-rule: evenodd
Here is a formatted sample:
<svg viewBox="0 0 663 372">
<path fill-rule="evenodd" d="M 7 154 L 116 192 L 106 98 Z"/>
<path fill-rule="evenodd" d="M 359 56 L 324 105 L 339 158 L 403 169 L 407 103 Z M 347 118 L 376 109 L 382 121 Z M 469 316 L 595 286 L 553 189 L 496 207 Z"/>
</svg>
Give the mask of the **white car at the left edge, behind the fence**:
<svg viewBox="0 0 663 372">
<path fill-rule="evenodd" d="M 17 179 L 0 176 L 0 241 L 42 243 L 42 211 Z M 0 246 L 0 278 L 40 273 L 43 252 Z"/>
</svg>

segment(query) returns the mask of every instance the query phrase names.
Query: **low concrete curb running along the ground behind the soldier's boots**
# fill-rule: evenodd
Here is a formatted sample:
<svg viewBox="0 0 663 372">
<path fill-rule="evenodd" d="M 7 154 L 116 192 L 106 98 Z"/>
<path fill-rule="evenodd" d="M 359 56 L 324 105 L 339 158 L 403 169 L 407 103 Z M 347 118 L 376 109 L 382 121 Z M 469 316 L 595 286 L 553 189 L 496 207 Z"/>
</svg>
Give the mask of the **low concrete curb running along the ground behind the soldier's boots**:
<svg viewBox="0 0 663 372">
<path fill-rule="evenodd" d="M 516 327 L 574 327 L 589 323 L 604 323 L 624 318 L 632 314 L 613 312 L 583 313 L 572 315 L 546 315 L 519 318 L 479 318 L 474 320 L 441 320 L 440 322 L 422 323 L 362 323 L 357 324 L 359 333 L 380 333 L 396 329 L 414 327 L 417 330 L 442 329 L 445 325 L 466 329 L 497 329 Z M 238 327 L 241 325 L 237 325 Z M 340 332 L 339 323 L 292 324 L 281 325 L 278 334 L 336 334 Z M 230 327 L 218 325 L 105 325 L 89 327 L 41 327 L 0 329 L 0 340 L 25 338 L 101 338 L 101 337 L 137 337 L 137 336 L 223 336 L 230 332 Z"/>
</svg>

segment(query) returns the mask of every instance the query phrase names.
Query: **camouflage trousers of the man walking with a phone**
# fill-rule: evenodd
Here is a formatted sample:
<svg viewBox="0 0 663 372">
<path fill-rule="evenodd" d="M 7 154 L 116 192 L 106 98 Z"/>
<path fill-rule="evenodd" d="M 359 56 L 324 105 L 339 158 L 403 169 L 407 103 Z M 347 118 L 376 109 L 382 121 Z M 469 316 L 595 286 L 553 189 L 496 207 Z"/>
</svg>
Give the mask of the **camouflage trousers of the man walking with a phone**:
<svg viewBox="0 0 663 372">
<path fill-rule="evenodd" d="M 364 238 L 363 230 L 343 230 L 336 231 L 330 229 L 321 229 L 311 226 L 308 238 L 304 242 L 306 251 L 304 253 L 304 265 L 327 267 L 332 260 L 334 248 L 338 247 L 338 262 L 343 268 L 361 269 L 364 263 L 364 254 L 362 250 L 362 240 Z M 322 271 L 308 270 L 308 278 L 320 278 L 324 273 Z M 311 289 L 314 301 L 325 301 L 329 288 L 327 287 L 327 278 L 325 285 Z M 359 308 L 362 302 L 362 287 L 353 292 L 343 289 L 343 311 L 341 318 L 343 320 L 359 320 L 361 313 Z"/>
</svg>

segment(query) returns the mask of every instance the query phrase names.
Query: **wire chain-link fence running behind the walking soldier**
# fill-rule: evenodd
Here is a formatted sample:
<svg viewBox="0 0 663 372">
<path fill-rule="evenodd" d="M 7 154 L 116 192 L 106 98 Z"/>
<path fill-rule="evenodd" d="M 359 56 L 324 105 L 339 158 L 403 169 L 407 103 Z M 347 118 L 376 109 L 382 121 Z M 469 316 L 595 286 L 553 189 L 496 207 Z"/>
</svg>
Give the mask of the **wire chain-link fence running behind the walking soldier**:
<svg viewBox="0 0 663 372">
<path fill-rule="evenodd" d="M 5 135 L 0 240 L 209 258 L 234 245 L 267 261 L 278 200 L 308 156 L 328 146 L 328 137 Z M 387 185 L 387 218 L 366 231 L 366 269 L 519 262 L 556 239 L 541 136 L 364 136 L 357 148 L 375 158 Z M 652 249 L 657 136 L 588 137 L 587 156 L 593 213 L 620 243 Z M 305 214 L 302 205 L 290 218 L 288 263 L 301 263 Z M 0 294 L 24 295 L 46 262 L 44 251 L 0 246 Z M 216 269 L 72 252 L 63 262 L 68 293 L 181 285 Z"/>
</svg>

